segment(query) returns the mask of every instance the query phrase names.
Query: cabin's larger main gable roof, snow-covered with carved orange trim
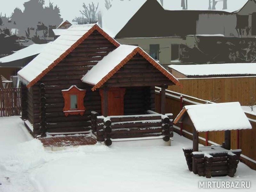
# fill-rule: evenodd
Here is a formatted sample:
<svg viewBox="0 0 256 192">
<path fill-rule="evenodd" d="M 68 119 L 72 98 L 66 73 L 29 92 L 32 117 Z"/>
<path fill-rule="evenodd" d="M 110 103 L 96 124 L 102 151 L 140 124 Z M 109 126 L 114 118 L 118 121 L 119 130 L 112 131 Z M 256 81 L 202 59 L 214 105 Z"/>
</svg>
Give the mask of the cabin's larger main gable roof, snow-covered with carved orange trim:
<svg viewBox="0 0 256 192">
<path fill-rule="evenodd" d="M 51 44 L 47 44 L 34 60 L 18 72 L 19 79 L 27 87 L 33 86 L 95 30 L 116 47 L 120 45 L 97 24 L 72 25 L 70 28 L 63 30 L 61 36 Z"/>
</svg>

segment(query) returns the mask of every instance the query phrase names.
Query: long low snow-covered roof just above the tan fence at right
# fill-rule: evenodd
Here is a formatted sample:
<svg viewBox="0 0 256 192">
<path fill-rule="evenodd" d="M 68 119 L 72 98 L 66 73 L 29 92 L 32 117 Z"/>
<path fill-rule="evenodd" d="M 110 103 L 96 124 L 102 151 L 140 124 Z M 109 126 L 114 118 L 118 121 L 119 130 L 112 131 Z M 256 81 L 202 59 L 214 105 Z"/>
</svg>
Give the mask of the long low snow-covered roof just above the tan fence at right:
<svg viewBox="0 0 256 192">
<path fill-rule="evenodd" d="M 202 65 L 169 65 L 185 76 L 256 75 L 256 63 L 225 63 Z"/>
</svg>

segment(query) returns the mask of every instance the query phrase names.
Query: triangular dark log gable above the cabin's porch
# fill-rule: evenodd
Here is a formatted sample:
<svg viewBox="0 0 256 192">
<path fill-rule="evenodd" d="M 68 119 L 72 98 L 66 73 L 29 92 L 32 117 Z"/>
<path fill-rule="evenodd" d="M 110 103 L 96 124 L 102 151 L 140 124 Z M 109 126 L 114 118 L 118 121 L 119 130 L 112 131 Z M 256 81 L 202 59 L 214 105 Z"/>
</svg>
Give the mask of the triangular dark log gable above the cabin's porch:
<svg viewBox="0 0 256 192">
<path fill-rule="evenodd" d="M 108 87 L 134 87 L 172 85 L 172 82 L 137 53 L 105 84 Z"/>
</svg>

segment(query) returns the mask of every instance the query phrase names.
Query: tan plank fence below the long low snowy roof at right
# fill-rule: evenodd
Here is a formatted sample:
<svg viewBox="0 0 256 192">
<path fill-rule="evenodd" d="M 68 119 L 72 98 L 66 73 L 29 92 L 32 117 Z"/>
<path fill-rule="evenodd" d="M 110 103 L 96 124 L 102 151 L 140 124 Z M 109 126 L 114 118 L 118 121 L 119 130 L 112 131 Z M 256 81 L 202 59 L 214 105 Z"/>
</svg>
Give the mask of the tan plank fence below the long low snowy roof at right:
<svg viewBox="0 0 256 192">
<path fill-rule="evenodd" d="M 217 103 L 238 101 L 249 106 L 256 101 L 256 77 L 223 77 L 179 79 L 183 87 L 172 85 L 168 90 Z"/>
</svg>

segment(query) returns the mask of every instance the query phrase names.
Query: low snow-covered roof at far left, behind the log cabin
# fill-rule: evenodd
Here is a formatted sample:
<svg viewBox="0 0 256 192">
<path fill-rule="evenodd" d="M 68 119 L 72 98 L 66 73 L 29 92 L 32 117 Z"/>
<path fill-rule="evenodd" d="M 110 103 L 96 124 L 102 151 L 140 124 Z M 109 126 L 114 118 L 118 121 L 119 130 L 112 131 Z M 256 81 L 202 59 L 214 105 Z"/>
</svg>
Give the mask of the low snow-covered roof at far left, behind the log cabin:
<svg viewBox="0 0 256 192">
<path fill-rule="evenodd" d="M 12 62 L 37 55 L 42 52 L 45 46 L 47 46 L 47 44 L 32 44 L 24 49 L 20 49 L 19 51 L 14 52 L 11 55 L 1 58 L 0 63 Z"/>
</svg>

